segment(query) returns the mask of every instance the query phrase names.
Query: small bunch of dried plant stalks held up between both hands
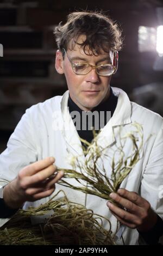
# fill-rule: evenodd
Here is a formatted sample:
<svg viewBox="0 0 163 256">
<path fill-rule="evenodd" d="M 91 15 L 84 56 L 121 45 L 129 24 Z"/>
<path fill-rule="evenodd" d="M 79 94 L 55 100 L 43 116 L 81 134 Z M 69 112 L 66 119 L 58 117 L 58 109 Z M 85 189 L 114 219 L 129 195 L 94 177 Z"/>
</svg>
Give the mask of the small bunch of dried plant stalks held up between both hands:
<svg viewBox="0 0 163 256">
<path fill-rule="evenodd" d="M 120 188 L 122 181 L 141 158 L 143 129 L 136 122 L 133 123 L 133 128 L 135 130 L 128 132 L 125 136 L 121 135 L 122 129 L 118 133 L 120 145 L 117 146 L 115 144 L 116 150 L 111 160 L 111 178 L 108 177 L 108 172 L 105 170 L 104 165 L 102 169 L 99 167 L 98 160 L 102 161 L 102 156 L 109 159 L 110 156 L 106 155 L 105 151 L 106 149 L 111 151 L 112 148 L 110 146 L 106 148 L 99 147 L 97 137 L 94 135 L 94 143 L 81 139 L 88 146 L 84 152 L 85 155 L 89 154 L 89 159 L 85 161 L 85 165 L 81 166 L 78 157 L 72 156 L 71 165 L 73 169 L 58 168 L 58 170 L 64 170 L 65 173 L 64 178 L 59 181 L 59 184 L 114 202 L 114 200 L 109 198 L 109 194 L 116 192 Z M 123 149 L 129 140 L 131 141 L 132 148 L 130 155 L 126 156 Z M 82 186 L 73 186 L 65 178 L 74 178 Z"/>
</svg>

